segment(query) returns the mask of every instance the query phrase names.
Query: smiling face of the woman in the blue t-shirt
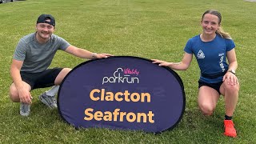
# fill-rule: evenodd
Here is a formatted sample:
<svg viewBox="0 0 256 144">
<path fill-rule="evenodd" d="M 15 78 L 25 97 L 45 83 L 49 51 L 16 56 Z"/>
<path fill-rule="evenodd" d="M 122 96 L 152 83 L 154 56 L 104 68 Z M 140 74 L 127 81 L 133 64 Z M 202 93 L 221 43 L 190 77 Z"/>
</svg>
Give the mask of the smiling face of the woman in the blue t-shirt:
<svg viewBox="0 0 256 144">
<path fill-rule="evenodd" d="M 218 30 L 218 27 L 220 26 L 218 16 L 205 14 L 202 18 L 201 25 L 203 34 L 215 34 L 216 30 Z"/>
</svg>

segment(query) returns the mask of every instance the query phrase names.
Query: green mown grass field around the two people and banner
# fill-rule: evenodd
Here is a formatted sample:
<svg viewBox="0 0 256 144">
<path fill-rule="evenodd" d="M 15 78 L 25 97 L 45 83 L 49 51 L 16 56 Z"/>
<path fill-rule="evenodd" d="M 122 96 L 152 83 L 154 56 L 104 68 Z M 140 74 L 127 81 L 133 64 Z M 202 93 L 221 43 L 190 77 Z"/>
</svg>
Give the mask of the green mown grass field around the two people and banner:
<svg viewBox="0 0 256 144">
<path fill-rule="evenodd" d="M 98 53 L 182 59 L 186 41 L 201 33 L 201 15 L 208 9 L 222 13 L 222 26 L 236 43 L 241 83 L 234 123 L 238 138 L 222 135 L 223 98 L 213 116 L 205 118 L 197 106 L 197 63 L 177 71 L 186 92 L 186 111 L 174 130 L 162 134 L 142 131 L 75 130 L 62 122 L 58 110 L 38 100 L 47 89 L 33 90 L 31 114 L 22 118 L 19 104 L 10 102 L 10 62 L 22 36 L 34 32 L 39 14 L 53 14 L 55 34 L 74 46 Z M 0 143 L 256 143 L 255 22 L 256 2 L 242 0 L 26 0 L 0 4 Z M 52 67 L 73 68 L 86 60 L 59 51 Z"/>
</svg>

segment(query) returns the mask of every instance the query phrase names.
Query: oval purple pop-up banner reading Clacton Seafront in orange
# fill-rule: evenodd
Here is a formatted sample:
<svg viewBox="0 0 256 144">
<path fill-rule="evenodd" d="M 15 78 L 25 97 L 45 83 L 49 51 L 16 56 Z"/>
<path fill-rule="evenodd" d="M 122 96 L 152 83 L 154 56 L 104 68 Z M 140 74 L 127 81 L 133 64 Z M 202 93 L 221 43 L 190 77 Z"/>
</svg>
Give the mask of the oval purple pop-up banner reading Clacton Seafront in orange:
<svg viewBox="0 0 256 144">
<path fill-rule="evenodd" d="M 76 128 L 159 133 L 180 122 L 185 105 L 183 83 L 174 70 L 130 56 L 83 62 L 58 91 L 58 112 Z"/>
</svg>

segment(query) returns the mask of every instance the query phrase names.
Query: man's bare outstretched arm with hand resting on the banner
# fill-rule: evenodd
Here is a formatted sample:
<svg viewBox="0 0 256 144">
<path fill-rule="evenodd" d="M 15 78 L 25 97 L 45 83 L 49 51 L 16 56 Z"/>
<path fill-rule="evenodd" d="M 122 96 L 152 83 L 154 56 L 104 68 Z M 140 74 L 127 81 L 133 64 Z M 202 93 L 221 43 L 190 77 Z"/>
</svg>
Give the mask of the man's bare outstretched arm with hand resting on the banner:
<svg viewBox="0 0 256 144">
<path fill-rule="evenodd" d="M 113 56 L 112 54 L 96 54 L 92 53 L 88 50 L 84 50 L 81 48 L 78 48 L 76 46 L 68 46 L 65 50 L 69 54 L 73 54 L 74 56 L 77 56 L 79 58 L 86 58 L 86 59 L 94 59 L 94 58 L 108 58 L 110 56 Z"/>
</svg>

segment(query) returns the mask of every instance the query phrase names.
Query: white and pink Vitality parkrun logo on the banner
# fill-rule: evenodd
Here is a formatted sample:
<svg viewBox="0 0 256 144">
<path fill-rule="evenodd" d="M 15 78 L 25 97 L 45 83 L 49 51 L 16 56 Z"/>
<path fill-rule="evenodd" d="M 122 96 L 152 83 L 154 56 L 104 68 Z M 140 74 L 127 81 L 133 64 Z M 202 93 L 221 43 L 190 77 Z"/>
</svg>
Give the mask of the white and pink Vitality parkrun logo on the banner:
<svg viewBox="0 0 256 144">
<path fill-rule="evenodd" d="M 130 68 L 118 68 L 114 71 L 113 77 L 104 77 L 102 79 L 102 85 L 104 83 L 139 83 L 138 80 L 139 71 L 137 69 Z"/>
</svg>

